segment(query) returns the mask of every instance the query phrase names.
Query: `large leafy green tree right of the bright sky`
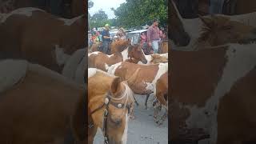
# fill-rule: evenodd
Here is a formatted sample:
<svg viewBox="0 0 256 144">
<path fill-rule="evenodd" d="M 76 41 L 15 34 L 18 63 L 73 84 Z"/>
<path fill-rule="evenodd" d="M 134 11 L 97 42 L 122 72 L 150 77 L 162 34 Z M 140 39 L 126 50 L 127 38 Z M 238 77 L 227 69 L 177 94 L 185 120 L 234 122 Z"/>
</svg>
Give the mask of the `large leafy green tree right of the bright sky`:
<svg viewBox="0 0 256 144">
<path fill-rule="evenodd" d="M 159 18 L 160 24 L 167 23 L 167 0 L 126 0 L 114 14 L 118 25 L 126 27 L 150 25 L 154 18 Z"/>
</svg>

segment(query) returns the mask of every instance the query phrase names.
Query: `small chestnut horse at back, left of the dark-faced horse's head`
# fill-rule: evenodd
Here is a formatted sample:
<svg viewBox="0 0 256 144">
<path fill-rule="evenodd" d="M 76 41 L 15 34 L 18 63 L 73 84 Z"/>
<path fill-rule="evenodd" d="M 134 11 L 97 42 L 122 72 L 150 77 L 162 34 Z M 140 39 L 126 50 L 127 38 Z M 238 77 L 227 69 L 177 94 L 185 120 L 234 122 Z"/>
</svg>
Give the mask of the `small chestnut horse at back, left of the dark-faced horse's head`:
<svg viewBox="0 0 256 144">
<path fill-rule="evenodd" d="M 125 50 L 127 48 L 127 46 L 129 46 L 130 43 L 130 39 L 120 39 L 117 41 L 114 41 L 110 44 L 110 54 L 114 54 L 117 52 L 122 52 L 123 50 Z"/>
</svg>

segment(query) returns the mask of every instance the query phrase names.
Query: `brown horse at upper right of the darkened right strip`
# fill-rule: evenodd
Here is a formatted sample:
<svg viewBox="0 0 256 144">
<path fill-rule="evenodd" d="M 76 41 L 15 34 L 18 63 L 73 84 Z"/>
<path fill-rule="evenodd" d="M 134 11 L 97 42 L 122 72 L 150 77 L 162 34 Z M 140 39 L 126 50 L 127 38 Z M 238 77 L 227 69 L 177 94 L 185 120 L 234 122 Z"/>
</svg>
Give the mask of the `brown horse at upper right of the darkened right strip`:
<svg viewBox="0 0 256 144">
<path fill-rule="evenodd" d="M 250 43 L 256 41 L 256 28 L 232 21 L 228 17 L 212 15 L 208 18 L 200 17 L 202 34 L 198 38 L 198 49 L 206 46 L 219 46 L 226 43 Z M 202 46 L 200 46 L 202 45 Z"/>
</svg>

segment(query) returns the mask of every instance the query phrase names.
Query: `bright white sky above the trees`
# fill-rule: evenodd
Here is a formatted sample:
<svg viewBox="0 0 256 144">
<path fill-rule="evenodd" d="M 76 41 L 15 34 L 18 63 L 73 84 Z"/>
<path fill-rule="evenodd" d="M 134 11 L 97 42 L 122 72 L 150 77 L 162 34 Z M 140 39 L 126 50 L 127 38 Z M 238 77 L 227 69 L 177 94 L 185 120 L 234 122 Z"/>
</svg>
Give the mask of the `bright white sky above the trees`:
<svg viewBox="0 0 256 144">
<path fill-rule="evenodd" d="M 115 18 L 114 11 L 110 10 L 111 7 L 114 9 L 118 8 L 121 3 L 126 2 L 126 0 L 92 0 L 94 6 L 90 8 L 90 15 L 94 15 L 98 10 L 102 9 L 107 14 L 108 18 Z"/>
</svg>

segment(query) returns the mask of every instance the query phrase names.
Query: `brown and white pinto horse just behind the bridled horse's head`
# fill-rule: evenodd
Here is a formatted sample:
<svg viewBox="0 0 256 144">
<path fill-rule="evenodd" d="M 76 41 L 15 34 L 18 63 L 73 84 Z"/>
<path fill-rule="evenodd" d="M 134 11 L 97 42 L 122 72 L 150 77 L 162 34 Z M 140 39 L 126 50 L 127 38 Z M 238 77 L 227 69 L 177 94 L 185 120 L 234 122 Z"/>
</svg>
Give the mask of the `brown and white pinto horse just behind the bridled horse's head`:
<svg viewBox="0 0 256 144">
<path fill-rule="evenodd" d="M 131 62 L 119 62 L 110 66 L 108 69 L 109 74 L 114 74 L 121 77 L 123 80 L 130 78 L 136 70 L 138 70 L 138 78 L 134 83 L 129 83 L 131 90 L 135 94 L 146 94 L 145 106 L 147 109 L 147 100 L 150 97 L 150 94 L 156 93 L 156 82 L 161 77 L 162 74 L 168 71 L 168 63 L 160 63 L 156 65 L 138 65 Z"/>
</svg>

